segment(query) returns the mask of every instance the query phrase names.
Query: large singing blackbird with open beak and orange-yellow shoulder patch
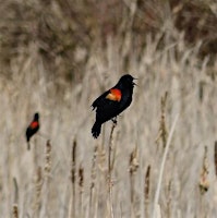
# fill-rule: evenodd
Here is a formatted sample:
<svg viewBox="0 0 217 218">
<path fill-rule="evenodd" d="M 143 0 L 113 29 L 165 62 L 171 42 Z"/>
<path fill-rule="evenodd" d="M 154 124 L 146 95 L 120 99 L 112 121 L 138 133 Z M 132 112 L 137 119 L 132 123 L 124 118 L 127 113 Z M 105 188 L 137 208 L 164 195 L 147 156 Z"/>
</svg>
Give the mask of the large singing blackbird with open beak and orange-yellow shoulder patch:
<svg viewBox="0 0 217 218">
<path fill-rule="evenodd" d="M 116 86 L 100 95 L 92 105 L 96 108 L 96 121 L 92 128 L 92 134 L 97 138 L 101 131 L 101 124 L 108 120 L 116 122 L 116 117 L 131 105 L 135 80 L 132 75 L 121 76 Z"/>
</svg>

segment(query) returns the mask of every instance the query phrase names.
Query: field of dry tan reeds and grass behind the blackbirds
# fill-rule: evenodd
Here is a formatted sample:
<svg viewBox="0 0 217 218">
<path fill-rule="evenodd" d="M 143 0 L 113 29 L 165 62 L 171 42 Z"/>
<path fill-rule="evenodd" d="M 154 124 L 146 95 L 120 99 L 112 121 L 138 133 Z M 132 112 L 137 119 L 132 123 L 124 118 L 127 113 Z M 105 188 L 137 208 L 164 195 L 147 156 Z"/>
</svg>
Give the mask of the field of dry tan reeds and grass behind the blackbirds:
<svg viewBox="0 0 217 218">
<path fill-rule="evenodd" d="M 62 71 L 70 66 L 61 52 L 49 48 L 56 58 L 45 59 L 34 40 L 20 44 L 7 65 L 4 60 L 0 217 L 152 217 L 159 185 L 156 217 L 216 217 L 217 63 L 209 64 L 208 56 L 198 58 L 204 41 L 190 47 L 184 35 L 169 26 L 156 37 L 144 34 L 143 46 L 135 48 L 130 24 L 140 10 L 124 3 L 130 12 L 123 11 L 128 16 L 122 29 L 117 37 L 89 45 L 82 76 L 65 82 Z M 73 60 L 75 55 L 81 50 L 73 51 Z M 94 140 L 91 105 L 125 72 L 138 78 L 133 102 L 116 128 L 107 122 Z M 35 111 L 41 128 L 28 152 L 25 129 Z M 167 137 L 177 114 L 174 132 Z M 202 194 L 204 166 L 209 186 Z"/>
</svg>

